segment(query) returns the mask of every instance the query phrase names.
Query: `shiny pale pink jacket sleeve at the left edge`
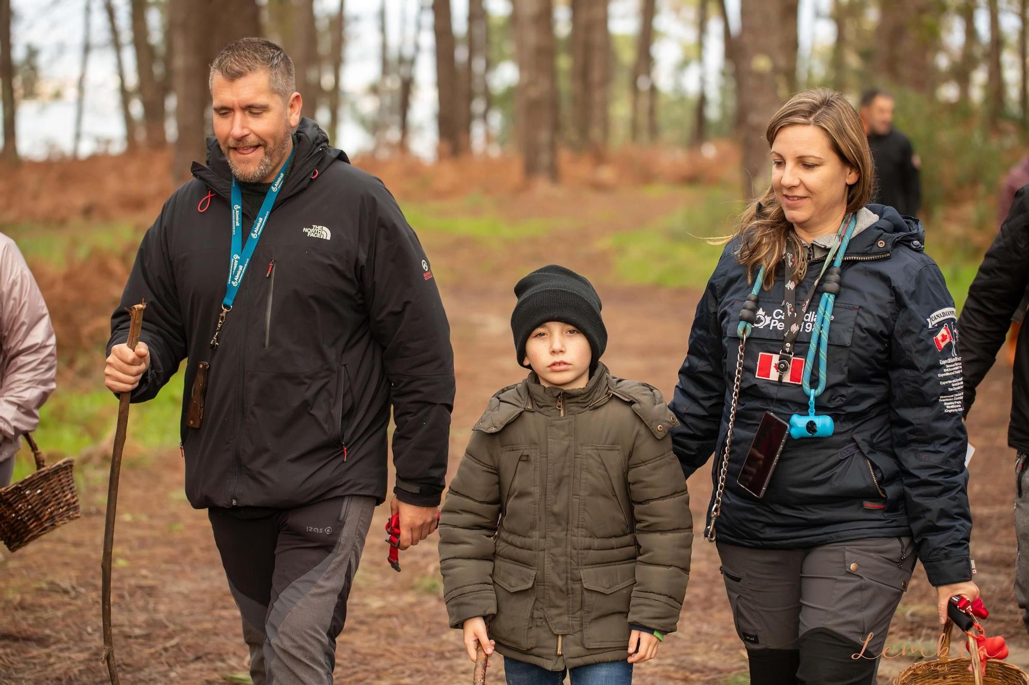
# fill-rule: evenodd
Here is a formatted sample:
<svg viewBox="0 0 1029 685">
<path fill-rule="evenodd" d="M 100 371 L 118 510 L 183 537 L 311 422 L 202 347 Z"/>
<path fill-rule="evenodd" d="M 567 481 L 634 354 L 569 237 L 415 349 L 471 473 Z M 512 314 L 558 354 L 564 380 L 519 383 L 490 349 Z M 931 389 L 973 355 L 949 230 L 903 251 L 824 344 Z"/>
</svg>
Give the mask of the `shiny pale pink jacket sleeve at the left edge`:
<svg viewBox="0 0 1029 685">
<path fill-rule="evenodd" d="M 38 425 L 56 374 L 57 340 L 46 302 L 17 246 L 0 233 L 0 460 Z"/>
</svg>

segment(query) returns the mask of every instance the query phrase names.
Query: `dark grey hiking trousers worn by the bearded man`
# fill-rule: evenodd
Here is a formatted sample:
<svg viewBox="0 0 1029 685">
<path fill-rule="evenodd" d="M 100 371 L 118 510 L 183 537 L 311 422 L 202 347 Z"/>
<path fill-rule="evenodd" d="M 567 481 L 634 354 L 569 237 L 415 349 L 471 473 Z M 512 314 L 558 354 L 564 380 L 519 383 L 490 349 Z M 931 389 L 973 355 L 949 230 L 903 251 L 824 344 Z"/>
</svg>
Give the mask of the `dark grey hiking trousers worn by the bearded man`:
<svg viewBox="0 0 1029 685">
<path fill-rule="evenodd" d="M 375 506 L 372 497 L 349 495 L 255 517 L 208 510 L 254 685 L 332 682 Z"/>
</svg>

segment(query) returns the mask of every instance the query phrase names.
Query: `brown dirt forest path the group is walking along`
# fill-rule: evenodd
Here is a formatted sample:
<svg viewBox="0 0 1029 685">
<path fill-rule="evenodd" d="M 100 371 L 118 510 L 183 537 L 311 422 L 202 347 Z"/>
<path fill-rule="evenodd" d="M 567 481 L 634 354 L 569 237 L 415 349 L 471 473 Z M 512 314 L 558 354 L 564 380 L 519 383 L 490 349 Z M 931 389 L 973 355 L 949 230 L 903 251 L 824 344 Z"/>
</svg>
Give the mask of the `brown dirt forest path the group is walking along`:
<svg viewBox="0 0 1029 685">
<path fill-rule="evenodd" d="M 669 207 L 639 208 L 644 220 Z M 646 215 L 646 216 L 644 216 Z M 624 224 L 623 216 L 617 223 Z M 611 224 L 614 224 L 612 219 Z M 487 254 L 456 237 L 425 240 L 435 258 L 457 359 L 457 401 L 450 448 L 452 476 L 471 425 L 497 389 L 514 383 L 509 313 L 511 286 L 525 271 L 549 262 L 580 268 L 604 299 L 610 344 L 605 362 L 625 377 L 648 381 L 667 396 L 686 350 L 697 293 L 615 286 L 610 255 L 595 240 L 610 226 L 498 244 Z M 588 240 L 589 239 L 589 240 Z M 584 246 L 566 258 L 569 245 Z M 446 264 L 446 266 L 445 266 Z M 998 364 L 980 392 L 969 430 L 978 447 L 969 488 L 974 517 L 977 580 L 992 610 L 991 634 L 1026 653 L 1012 590 L 1015 542 L 1012 454 L 1005 446 L 1010 372 Z M 131 429 L 130 429 L 131 430 Z M 244 682 L 246 652 L 206 514 L 182 495 L 177 450 L 154 455 L 147 467 L 122 472 L 115 539 L 114 635 L 122 682 L 215 684 Z M 711 492 L 708 471 L 689 482 L 698 536 Z M 386 564 L 387 507 L 371 524 L 338 642 L 335 682 L 437 685 L 466 683 L 471 664 L 458 632 L 447 627 L 436 540 L 401 553 L 402 573 Z M 106 682 L 100 662 L 100 548 L 103 510 L 0 562 L 0 683 Z M 890 643 L 933 640 L 934 600 L 921 569 L 897 612 Z M 931 649 L 931 648 L 930 648 Z M 501 659 L 491 683 L 503 682 Z M 899 659 L 883 666 L 895 672 Z M 1024 664 L 1023 664 L 1024 665 Z M 718 573 L 714 546 L 694 544 L 693 572 L 680 630 L 659 657 L 639 666 L 635 682 L 746 683 L 742 643 Z M 888 682 L 884 680 L 883 682 Z"/>
</svg>

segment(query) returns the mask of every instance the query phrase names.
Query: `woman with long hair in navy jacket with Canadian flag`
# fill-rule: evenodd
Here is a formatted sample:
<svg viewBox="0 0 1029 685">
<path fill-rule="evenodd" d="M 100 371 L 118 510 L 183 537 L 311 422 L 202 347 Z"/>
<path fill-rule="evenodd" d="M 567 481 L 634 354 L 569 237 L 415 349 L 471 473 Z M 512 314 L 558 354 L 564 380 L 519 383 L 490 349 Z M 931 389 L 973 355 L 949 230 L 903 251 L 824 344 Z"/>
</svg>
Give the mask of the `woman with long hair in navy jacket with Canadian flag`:
<svg viewBox="0 0 1029 685">
<path fill-rule="evenodd" d="M 673 447 L 687 477 L 715 452 L 705 537 L 751 682 L 874 683 L 916 557 L 941 623 L 951 596 L 979 594 L 954 303 L 919 222 L 868 204 L 872 155 L 843 96 L 795 95 L 766 137 L 772 187 L 697 307 Z M 748 453 L 772 464 L 776 418 L 799 432 L 762 492 Z"/>
</svg>

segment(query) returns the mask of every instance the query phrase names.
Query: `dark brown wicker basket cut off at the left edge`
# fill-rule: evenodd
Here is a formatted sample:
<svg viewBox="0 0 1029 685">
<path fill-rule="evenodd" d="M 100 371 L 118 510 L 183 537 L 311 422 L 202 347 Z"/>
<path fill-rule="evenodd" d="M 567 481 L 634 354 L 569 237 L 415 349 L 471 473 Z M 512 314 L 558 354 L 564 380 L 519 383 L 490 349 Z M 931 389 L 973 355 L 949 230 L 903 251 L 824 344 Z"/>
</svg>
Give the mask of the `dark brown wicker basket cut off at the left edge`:
<svg viewBox="0 0 1029 685">
<path fill-rule="evenodd" d="M 27 433 L 25 439 L 32 447 L 36 472 L 0 490 L 0 540 L 10 551 L 81 515 L 72 475 L 74 460 L 46 466 L 32 435 Z"/>
</svg>

